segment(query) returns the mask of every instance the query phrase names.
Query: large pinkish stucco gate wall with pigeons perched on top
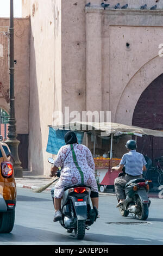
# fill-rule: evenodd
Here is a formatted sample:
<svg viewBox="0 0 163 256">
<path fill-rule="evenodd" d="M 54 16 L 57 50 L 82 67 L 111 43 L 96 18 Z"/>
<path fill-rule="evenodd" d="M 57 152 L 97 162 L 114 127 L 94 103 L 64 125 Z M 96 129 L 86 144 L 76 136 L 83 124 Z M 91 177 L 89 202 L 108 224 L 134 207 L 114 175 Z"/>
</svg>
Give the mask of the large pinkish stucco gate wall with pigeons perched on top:
<svg viewBox="0 0 163 256">
<path fill-rule="evenodd" d="M 29 169 L 49 174 L 46 145 L 53 112 L 111 111 L 131 124 L 143 90 L 162 73 L 162 10 L 108 10 L 102 1 L 31 0 Z M 126 4 L 122 0 L 121 5 Z M 148 1 L 148 9 L 155 4 Z M 163 8 L 162 1 L 157 3 Z M 26 8 L 26 5 L 23 5 Z M 28 9 L 28 5 L 27 5 Z M 126 47 L 126 43 L 130 48 Z"/>
</svg>

